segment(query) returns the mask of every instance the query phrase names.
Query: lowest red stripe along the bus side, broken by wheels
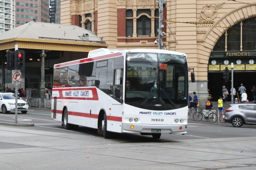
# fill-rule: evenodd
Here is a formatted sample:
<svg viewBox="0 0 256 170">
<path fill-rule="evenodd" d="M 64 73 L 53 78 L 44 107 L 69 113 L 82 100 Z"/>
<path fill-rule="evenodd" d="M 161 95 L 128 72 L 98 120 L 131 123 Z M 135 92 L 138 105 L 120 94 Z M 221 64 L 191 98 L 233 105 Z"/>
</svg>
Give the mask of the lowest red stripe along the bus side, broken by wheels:
<svg viewBox="0 0 256 170">
<path fill-rule="evenodd" d="M 52 110 L 52 113 L 53 113 L 53 110 Z M 62 110 L 56 110 L 56 113 L 62 114 Z M 68 114 L 72 116 L 89 117 L 94 119 L 98 119 L 98 116 L 99 116 L 98 114 L 80 113 L 80 112 L 72 112 L 72 111 L 69 111 Z M 122 117 L 107 116 L 107 120 L 122 122 Z"/>
</svg>

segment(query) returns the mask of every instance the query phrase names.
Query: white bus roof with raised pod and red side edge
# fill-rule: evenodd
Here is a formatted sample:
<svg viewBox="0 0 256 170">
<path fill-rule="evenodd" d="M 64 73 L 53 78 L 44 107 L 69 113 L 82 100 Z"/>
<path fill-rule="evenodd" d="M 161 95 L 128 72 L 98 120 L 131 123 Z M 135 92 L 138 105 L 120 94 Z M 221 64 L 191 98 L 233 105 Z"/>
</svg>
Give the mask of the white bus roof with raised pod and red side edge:
<svg viewBox="0 0 256 170">
<path fill-rule="evenodd" d="M 89 51 L 88 58 L 68 61 L 65 63 L 59 63 L 54 65 L 54 69 L 70 66 L 74 64 L 81 64 L 86 62 L 92 62 L 95 60 L 105 60 L 108 58 L 120 57 L 125 56 L 126 53 L 163 53 L 163 54 L 175 54 L 175 55 L 182 55 L 186 56 L 185 53 L 180 53 L 176 51 L 169 51 L 169 50 L 159 50 L 159 49 L 130 49 L 130 50 L 117 50 L 117 49 L 108 49 L 108 48 L 99 48 L 96 50 Z"/>
</svg>

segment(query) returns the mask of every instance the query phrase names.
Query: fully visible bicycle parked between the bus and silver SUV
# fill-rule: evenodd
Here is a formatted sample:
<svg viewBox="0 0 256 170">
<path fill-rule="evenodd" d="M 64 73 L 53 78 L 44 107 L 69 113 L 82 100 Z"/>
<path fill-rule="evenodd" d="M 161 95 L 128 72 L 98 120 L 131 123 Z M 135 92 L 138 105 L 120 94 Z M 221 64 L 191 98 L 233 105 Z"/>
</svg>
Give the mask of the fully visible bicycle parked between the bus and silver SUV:
<svg viewBox="0 0 256 170">
<path fill-rule="evenodd" d="M 210 122 L 216 122 L 218 120 L 218 115 L 213 112 L 213 110 L 203 110 L 201 109 L 199 112 L 195 112 L 193 114 L 194 121 L 200 122 L 202 119 L 209 120 Z"/>
</svg>

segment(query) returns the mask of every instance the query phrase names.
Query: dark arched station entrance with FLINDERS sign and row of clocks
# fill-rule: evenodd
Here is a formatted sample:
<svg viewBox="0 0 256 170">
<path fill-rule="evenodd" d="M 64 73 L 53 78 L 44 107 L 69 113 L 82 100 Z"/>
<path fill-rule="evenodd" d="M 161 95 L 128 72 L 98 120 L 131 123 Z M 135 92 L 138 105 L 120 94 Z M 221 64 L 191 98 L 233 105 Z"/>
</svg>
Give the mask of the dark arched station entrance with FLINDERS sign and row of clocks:
<svg viewBox="0 0 256 170">
<path fill-rule="evenodd" d="M 223 79 L 225 67 L 231 75 L 231 63 L 234 64 L 234 88 L 238 91 L 240 84 L 244 84 L 252 101 L 251 89 L 256 84 L 256 17 L 234 24 L 216 42 L 208 63 L 208 89 L 213 100 L 221 95 L 223 85 L 231 89 L 231 81 Z"/>
</svg>

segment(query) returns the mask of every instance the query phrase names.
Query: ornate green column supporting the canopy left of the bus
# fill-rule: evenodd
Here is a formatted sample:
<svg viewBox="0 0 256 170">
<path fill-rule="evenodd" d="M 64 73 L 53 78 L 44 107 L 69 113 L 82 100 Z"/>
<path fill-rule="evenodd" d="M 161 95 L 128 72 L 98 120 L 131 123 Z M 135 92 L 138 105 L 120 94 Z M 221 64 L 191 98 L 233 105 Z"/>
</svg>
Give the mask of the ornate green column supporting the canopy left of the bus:
<svg viewBox="0 0 256 170">
<path fill-rule="evenodd" d="M 44 50 L 42 50 L 42 54 L 40 54 L 41 57 L 41 87 L 40 87 L 40 108 L 44 108 L 44 92 L 45 92 L 45 81 L 44 81 L 44 58 L 46 57 L 46 54 L 44 54 Z"/>
</svg>

